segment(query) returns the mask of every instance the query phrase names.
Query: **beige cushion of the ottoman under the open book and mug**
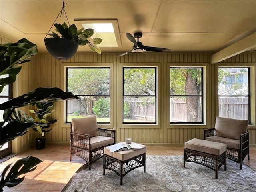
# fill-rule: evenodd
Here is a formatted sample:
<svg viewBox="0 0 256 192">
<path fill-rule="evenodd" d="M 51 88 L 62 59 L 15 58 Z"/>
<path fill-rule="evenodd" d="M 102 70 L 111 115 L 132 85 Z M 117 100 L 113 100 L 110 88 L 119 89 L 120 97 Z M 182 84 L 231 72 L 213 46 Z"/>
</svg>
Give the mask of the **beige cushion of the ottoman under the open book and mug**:
<svg viewBox="0 0 256 192">
<path fill-rule="evenodd" d="M 121 161 L 128 160 L 130 158 L 133 158 L 135 156 L 144 154 L 147 152 L 147 146 L 140 144 L 143 149 L 138 149 L 138 150 L 125 150 L 125 151 L 118 151 L 118 152 L 110 152 L 108 147 L 104 148 L 104 154 L 111 156 L 113 158 L 116 158 Z"/>
</svg>

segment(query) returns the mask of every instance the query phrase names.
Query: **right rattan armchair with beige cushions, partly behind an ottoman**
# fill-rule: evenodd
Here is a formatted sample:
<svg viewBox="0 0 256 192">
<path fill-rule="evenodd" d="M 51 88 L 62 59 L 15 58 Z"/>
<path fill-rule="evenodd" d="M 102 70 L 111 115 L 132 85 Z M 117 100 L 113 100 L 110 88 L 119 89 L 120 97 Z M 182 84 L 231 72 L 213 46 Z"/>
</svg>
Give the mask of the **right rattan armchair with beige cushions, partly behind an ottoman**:
<svg viewBox="0 0 256 192">
<path fill-rule="evenodd" d="M 239 163 L 249 156 L 248 120 L 217 117 L 215 128 L 204 130 L 204 140 L 227 144 L 227 158 Z"/>
</svg>

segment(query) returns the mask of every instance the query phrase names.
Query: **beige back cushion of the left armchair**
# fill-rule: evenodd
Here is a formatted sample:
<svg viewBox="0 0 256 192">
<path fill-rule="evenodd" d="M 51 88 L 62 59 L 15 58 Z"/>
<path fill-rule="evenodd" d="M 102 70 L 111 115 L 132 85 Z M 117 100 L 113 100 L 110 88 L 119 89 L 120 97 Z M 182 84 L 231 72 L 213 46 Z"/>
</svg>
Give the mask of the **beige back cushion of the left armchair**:
<svg viewBox="0 0 256 192">
<path fill-rule="evenodd" d="M 74 118 L 71 120 L 72 132 L 98 136 L 98 127 L 96 116 L 88 116 L 84 118 Z"/>
</svg>

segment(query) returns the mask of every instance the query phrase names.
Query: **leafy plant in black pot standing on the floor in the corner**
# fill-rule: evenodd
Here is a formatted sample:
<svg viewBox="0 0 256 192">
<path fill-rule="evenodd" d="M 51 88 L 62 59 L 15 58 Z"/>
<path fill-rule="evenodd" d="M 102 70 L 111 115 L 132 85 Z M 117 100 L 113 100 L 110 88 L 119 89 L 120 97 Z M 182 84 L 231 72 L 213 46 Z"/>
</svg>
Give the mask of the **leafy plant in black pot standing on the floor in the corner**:
<svg viewBox="0 0 256 192">
<path fill-rule="evenodd" d="M 45 133 L 49 132 L 52 129 L 49 129 L 50 124 L 54 124 L 57 122 L 56 119 L 54 120 L 48 120 L 48 117 L 52 112 L 54 112 L 53 108 L 53 102 L 46 102 L 46 103 L 40 103 L 36 104 L 37 109 L 36 110 L 29 110 L 31 113 L 34 113 L 36 115 L 36 120 L 40 123 L 33 128 L 34 131 L 39 132 L 42 137 L 36 138 L 36 149 L 44 149 L 45 148 Z"/>
</svg>

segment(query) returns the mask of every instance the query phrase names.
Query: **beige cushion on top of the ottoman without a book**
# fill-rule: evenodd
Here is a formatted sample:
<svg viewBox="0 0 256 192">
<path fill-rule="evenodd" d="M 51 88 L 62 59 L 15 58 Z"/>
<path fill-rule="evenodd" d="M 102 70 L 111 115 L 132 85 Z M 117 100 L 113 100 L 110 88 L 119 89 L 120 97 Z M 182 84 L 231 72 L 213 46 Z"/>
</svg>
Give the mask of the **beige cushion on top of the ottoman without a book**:
<svg viewBox="0 0 256 192">
<path fill-rule="evenodd" d="M 227 150 L 227 145 L 194 138 L 185 142 L 185 148 L 219 156 Z"/>
</svg>

